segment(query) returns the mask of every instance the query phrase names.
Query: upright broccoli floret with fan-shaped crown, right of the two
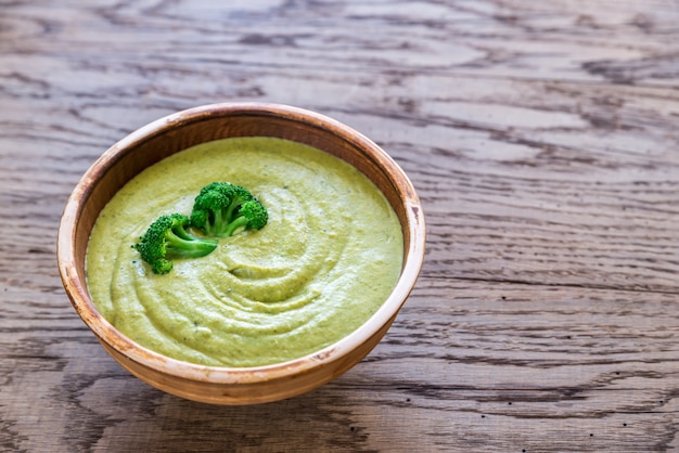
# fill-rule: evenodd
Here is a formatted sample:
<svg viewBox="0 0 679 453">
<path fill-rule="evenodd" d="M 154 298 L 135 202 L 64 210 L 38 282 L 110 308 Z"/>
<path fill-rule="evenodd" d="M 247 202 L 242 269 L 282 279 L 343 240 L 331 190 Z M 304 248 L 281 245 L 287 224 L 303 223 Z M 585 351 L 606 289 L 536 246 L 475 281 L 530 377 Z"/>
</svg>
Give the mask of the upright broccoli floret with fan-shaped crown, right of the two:
<svg viewBox="0 0 679 453">
<path fill-rule="evenodd" d="M 212 237 L 228 237 L 240 229 L 259 230 L 268 220 L 267 209 L 247 189 L 229 182 L 203 187 L 191 213 L 191 223 Z"/>
</svg>

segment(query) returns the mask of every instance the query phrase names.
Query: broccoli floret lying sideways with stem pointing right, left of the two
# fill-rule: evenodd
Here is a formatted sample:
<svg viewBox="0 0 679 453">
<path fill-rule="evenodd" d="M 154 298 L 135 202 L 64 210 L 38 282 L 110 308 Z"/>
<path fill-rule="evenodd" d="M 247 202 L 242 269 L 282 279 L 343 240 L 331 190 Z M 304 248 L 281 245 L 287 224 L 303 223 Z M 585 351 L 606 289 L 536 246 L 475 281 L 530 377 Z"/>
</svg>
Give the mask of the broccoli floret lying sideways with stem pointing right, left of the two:
<svg viewBox="0 0 679 453">
<path fill-rule="evenodd" d="M 217 248 L 217 241 L 196 237 L 187 231 L 189 217 L 171 213 L 158 217 L 133 247 L 156 274 L 172 270 L 172 258 L 197 258 Z"/>
</svg>

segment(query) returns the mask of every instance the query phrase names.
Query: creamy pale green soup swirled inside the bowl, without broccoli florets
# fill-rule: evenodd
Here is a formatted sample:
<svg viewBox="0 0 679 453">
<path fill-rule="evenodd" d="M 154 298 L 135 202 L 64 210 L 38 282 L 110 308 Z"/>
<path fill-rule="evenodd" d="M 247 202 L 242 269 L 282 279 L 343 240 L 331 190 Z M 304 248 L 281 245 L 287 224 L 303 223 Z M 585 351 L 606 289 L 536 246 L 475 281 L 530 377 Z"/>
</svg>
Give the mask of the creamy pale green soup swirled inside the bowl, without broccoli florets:
<svg viewBox="0 0 679 453">
<path fill-rule="evenodd" d="M 152 273 L 131 245 L 159 215 L 190 215 L 213 181 L 247 187 L 269 222 Z M 92 231 L 88 286 L 101 313 L 149 349 L 204 365 L 266 365 L 364 323 L 398 280 L 402 247 L 392 207 L 348 164 L 290 141 L 227 139 L 162 160 L 115 195 Z"/>
</svg>

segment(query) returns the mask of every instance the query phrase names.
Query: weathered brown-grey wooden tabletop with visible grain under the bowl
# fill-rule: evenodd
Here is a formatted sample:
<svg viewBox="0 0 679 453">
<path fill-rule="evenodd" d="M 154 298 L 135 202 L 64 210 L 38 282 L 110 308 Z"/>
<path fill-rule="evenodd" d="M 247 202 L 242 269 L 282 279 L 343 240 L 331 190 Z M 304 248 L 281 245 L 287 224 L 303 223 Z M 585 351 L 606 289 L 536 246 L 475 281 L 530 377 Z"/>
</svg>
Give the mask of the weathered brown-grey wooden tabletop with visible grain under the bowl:
<svg viewBox="0 0 679 453">
<path fill-rule="evenodd" d="M 0 450 L 679 449 L 679 4 L 15 1 L 0 13 Z M 55 261 L 80 176 L 161 116 L 292 104 L 381 144 L 418 285 L 335 381 L 210 406 L 130 376 Z"/>
</svg>

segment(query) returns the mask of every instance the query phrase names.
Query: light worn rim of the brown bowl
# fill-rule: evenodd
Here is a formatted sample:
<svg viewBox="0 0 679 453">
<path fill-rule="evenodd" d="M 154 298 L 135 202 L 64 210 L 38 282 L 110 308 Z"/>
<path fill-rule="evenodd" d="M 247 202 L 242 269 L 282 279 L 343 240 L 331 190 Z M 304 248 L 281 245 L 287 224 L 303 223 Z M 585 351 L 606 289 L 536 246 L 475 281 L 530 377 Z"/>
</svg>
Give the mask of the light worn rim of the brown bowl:
<svg viewBox="0 0 679 453">
<path fill-rule="evenodd" d="M 117 157 L 130 146 L 151 137 L 170 131 L 188 121 L 200 121 L 205 117 L 215 115 L 239 114 L 283 116 L 294 121 L 312 121 L 315 126 L 320 125 L 322 128 L 341 135 L 342 139 L 357 148 L 369 150 L 371 157 L 377 159 L 381 170 L 388 176 L 395 186 L 399 187 L 398 192 L 403 196 L 401 203 L 406 210 L 410 241 L 403 254 L 401 273 L 387 299 L 357 329 L 336 342 L 310 354 L 273 364 L 248 367 L 201 365 L 163 355 L 137 344 L 116 329 L 99 313 L 87 289 L 87 282 L 81 282 L 77 272 L 76 224 L 87 204 L 91 186 L 97 183 L 92 178 L 95 174 L 102 174 L 114 166 Z M 395 184 L 396 181 L 400 185 Z M 405 231 L 403 234 L 406 234 Z M 100 342 L 104 341 L 126 358 L 157 372 L 184 379 L 226 385 L 257 384 L 291 377 L 346 357 L 357 346 L 377 334 L 385 324 L 390 323 L 399 312 L 420 274 L 424 261 L 424 216 L 414 186 L 398 164 L 372 140 L 349 126 L 305 108 L 273 103 L 228 102 L 206 104 L 166 115 L 130 132 L 108 147 L 82 174 L 66 202 L 59 225 L 56 258 L 60 276 L 72 305 Z"/>
</svg>

